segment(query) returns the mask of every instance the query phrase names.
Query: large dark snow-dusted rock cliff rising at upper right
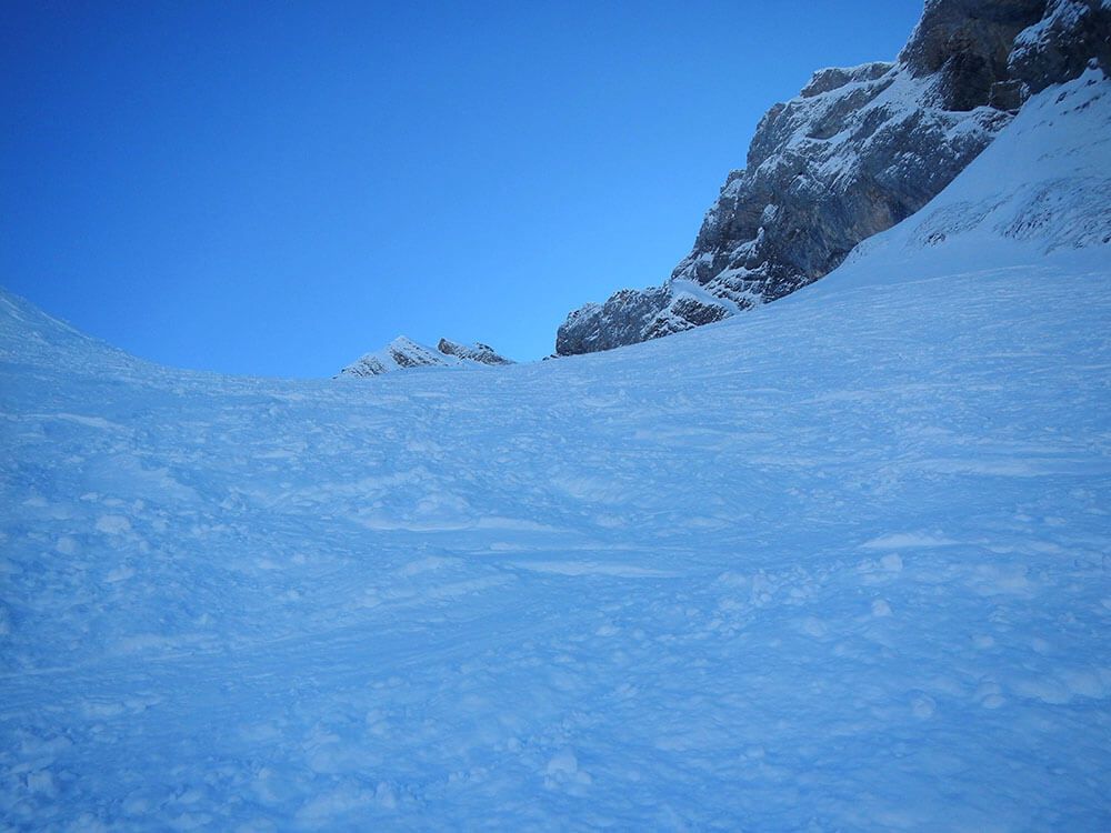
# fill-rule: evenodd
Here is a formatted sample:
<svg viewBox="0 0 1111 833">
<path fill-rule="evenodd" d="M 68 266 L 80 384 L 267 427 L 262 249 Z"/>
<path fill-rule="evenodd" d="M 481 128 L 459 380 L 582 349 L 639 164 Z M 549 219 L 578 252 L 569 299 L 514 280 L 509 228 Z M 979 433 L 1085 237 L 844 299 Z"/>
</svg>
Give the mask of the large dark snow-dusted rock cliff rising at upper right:
<svg viewBox="0 0 1111 833">
<path fill-rule="evenodd" d="M 1109 10 L 1111 0 L 929 0 L 897 62 L 820 70 L 772 107 L 671 278 L 575 310 L 557 353 L 689 330 L 822 278 L 935 197 L 1031 91 L 1107 60 Z"/>
</svg>

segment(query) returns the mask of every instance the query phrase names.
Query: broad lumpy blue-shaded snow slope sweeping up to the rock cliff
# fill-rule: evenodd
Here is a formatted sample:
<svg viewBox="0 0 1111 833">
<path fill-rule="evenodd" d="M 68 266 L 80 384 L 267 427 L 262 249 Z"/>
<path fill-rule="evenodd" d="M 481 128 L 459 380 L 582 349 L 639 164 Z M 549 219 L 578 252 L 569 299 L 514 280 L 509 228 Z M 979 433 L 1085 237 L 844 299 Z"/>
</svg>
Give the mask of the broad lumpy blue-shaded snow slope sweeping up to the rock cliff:
<svg viewBox="0 0 1111 833">
<path fill-rule="evenodd" d="M 1109 87 L 609 353 L 233 379 L 0 294 L 0 826 L 1107 830 Z"/>
</svg>

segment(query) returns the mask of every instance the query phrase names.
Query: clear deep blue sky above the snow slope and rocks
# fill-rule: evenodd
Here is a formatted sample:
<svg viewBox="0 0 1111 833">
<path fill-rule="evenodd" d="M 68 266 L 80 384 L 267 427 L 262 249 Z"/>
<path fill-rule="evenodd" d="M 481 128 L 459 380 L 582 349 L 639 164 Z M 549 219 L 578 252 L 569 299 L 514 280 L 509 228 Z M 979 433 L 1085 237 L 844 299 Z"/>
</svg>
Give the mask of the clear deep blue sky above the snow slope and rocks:
<svg viewBox="0 0 1111 833">
<path fill-rule="evenodd" d="M 920 0 L 51 2 L 0 19 L 0 284 L 176 367 L 551 352 L 662 282 L 811 72 Z"/>
</svg>

